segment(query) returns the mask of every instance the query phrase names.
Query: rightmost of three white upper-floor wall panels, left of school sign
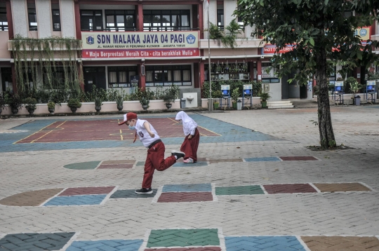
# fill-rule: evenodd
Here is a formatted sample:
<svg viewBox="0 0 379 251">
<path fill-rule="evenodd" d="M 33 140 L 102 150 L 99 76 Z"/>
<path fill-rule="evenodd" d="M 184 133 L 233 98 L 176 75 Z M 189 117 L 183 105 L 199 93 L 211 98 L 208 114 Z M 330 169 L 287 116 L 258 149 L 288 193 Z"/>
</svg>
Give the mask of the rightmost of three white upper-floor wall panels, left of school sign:
<svg viewBox="0 0 379 251">
<path fill-rule="evenodd" d="M 76 38 L 74 0 L 60 0 L 59 8 L 62 37 Z"/>
</svg>

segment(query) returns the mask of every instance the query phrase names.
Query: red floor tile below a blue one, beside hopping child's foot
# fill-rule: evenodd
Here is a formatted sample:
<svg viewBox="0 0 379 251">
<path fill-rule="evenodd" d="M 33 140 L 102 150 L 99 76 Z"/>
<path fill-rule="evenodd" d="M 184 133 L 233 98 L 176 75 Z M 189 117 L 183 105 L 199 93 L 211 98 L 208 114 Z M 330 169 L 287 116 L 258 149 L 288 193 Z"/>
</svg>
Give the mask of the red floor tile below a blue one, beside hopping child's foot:
<svg viewBox="0 0 379 251">
<path fill-rule="evenodd" d="M 195 201 L 213 201 L 211 192 L 196 192 L 196 193 L 162 193 L 158 198 L 159 203 L 168 202 L 195 202 Z"/>
</svg>

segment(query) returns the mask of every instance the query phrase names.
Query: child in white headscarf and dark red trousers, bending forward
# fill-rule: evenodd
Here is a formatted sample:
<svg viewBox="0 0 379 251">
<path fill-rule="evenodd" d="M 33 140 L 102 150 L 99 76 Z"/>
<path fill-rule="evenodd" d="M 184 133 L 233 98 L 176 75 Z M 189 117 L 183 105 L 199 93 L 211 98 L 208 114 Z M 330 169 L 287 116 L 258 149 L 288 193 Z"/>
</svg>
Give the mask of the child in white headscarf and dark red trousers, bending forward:
<svg viewBox="0 0 379 251">
<path fill-rule="evenodd" d="M 190 118 L 184 111 L 176 114 L 175 120 L 183 124 L 185 141 L 180 147 L 180 151 L 185 153 L 184 163 L 197 162 L 197 147 L 199 147 L 200 133 L 197 130 L 197 123 Z"/>
</svg>

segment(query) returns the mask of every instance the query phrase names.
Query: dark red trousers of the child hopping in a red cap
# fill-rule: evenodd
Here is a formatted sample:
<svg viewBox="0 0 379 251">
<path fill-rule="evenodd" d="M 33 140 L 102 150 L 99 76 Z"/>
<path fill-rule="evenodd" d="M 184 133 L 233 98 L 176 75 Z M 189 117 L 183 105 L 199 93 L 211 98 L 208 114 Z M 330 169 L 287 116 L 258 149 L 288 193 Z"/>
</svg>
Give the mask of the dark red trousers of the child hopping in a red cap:
<svg viewBox="0 0 379 251">
<path fill-rule="evenodd" d="M 170 156 L 164 158 L 164 147 L 163 142 L 154 144 L 154 146 L 147 150 L 147 157 L 145 162 L 145 174 L 143 175 L 142 188 L 149 189 L 152 187 L 152 176 L 154 175 L 154 170 L 164 171 L 171 165 L 175 164 L 175 156 Z"/>
</svg>

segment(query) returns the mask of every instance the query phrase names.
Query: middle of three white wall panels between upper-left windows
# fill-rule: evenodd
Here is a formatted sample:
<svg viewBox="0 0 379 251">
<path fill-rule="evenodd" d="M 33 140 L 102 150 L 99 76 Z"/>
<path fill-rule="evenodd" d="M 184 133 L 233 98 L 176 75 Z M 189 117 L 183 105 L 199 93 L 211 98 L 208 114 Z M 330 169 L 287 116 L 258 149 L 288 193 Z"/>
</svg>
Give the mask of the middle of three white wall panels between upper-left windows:
<svg viewBox="0 0 379 251">
<path fill-rule="evenodd" d="M 50 0 L 36 0 L 36 14 L 39 39 L 50 37 L 53 32 Z"/>
</svg>

